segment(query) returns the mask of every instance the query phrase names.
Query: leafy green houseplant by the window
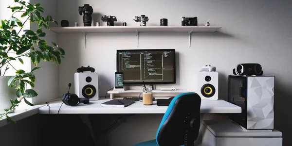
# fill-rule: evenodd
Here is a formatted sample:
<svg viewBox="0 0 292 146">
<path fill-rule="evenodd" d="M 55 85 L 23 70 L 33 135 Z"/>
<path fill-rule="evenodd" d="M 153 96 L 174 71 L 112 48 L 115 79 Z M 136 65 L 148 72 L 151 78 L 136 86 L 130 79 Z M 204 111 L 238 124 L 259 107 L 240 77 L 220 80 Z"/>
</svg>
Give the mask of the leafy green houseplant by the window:
<svg viewBox="0 0 292 146">
<path fill-rule="evenodd" d="M 58 65 L 61 63 L 61 58 L 64 58 L 65 55 L 65 51 L 58 47 L 55 42 L 49 43 L 42 39 L 46 36 L 42 29 L 50 30 L 50 23 L 52 22 L 58 25 L 52 16 L 43 17 L 41 13 L 44 12 L 44 9 L 39 3 L 31 4 L 23 0 L 14 1 L 18 6 L 8 6 L 13 12 L 10 19 L 4 19 L 0 22 L 0 76 L 4 76 L 8 69 L 14 69 L 16 72 L 16 75 L 11 76 L 7 81 L 7 86 L 14 88 L 16 99 L 11 99 L 11 107 L 4 109 L 6 112 L 0 114 L 0 118 L 6 116 L 10 122 L 14 121 L 11 120 L 8 114 L 14 112 L 22 100 L 28 105 L 33 105 L 26 98 L 37 97 L 37 92 L 29 89 L 28 86 L 32 88 L 35 86 L 36 77 L 34 71 L 40 69 L 37 66 L 39 62 L 41 60 L 52 61 Z M 20 13 L 19 16 L 21 18 L 24 18 L 23 22 L 20 21 L 20 18 L 16 17 L 17 13 Z M 37 30 L 25 29 L 23 27 L 25 23 L 37 23 Z M 23 57 L 29 57 L 31 63 L 35 65 L 30 72 L 18 69 L 11 64 L 13 61 L 24 64 L 21 59 Z"/>
</svg>

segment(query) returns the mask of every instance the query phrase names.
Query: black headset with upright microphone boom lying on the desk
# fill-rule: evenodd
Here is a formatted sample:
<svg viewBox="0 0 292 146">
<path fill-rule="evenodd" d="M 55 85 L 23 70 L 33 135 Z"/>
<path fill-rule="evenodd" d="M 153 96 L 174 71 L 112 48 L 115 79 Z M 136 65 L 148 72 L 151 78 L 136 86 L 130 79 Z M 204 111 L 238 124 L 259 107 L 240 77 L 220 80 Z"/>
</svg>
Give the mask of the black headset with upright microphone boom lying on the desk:
<svg viewBox="0 0 292 146">
<path fill-rule="evenodd" d="M 69 83 L 68 93 L 63 94 L 62 101 L 66 105 L 76 106 L 79 103 L 89 104 L 89 98 L 79 98 L 76 94 L 69 93 L 71 83 Z"/>
</svg>

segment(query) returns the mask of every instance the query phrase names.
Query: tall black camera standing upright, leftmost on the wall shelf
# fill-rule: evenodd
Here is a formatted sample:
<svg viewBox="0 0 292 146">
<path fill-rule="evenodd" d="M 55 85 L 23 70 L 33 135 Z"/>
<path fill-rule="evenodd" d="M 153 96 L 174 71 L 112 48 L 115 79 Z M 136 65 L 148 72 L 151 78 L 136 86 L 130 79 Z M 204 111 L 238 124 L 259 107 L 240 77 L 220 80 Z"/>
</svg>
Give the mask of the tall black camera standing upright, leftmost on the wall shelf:
<svg viewBox="0 0 292 146">
<path fill-rule="evenodd" d="M 83 15 L 83 24 L 84 26 L 91 26 L 92 23 L 92 13 L 93 9 L 89 4 L 84 4 L 84 6 L 80 6 L 78 8 L 79 14 Z"/>
</svg>

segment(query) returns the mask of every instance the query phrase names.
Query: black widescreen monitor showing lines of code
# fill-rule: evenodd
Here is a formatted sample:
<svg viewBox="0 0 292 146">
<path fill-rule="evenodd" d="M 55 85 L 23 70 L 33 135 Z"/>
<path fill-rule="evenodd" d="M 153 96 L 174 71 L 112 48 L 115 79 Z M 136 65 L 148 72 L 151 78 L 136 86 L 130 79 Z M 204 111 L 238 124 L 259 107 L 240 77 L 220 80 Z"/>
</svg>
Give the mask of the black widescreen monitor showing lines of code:
<svg viewBox="0 0 292 146">
<path fill-rule="evenodd" d="M 117 72 L 124 84 L 175 83 L 175 49 L 117 50 Z"/>
</svg>

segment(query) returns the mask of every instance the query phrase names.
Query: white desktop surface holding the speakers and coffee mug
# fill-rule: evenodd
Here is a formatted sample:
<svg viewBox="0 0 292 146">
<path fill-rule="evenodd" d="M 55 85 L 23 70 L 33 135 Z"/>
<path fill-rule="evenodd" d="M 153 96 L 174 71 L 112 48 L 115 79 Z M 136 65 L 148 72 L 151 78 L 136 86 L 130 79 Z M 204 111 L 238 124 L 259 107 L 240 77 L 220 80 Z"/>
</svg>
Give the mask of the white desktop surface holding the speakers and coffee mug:
<svg viewBox="0 0 292 146">
<path fill-rule="evenodd" d="M 68 106 L 63 104 L 59 114 L 164 114 L 167 109 L 167 106 L 157 106 L 156 101 L 153 102 L 153 105 L 143 105 L 142 102 L 137 101 L 128 107 L 101 106 L 101 103 L 109 100 L 112 99 L 99 98 L 99 100 L 90 101 L 89 105 Z M 50 106 L 50 114 L 57 114 L 62 101 L 51 101 L 48 104 Z M 49 114 L 49 106 L 40 107 L 39 114 Z M 222 99 L 202 100 L 201 113 L 241 113 L 241 108 Z"/>
</svg>

